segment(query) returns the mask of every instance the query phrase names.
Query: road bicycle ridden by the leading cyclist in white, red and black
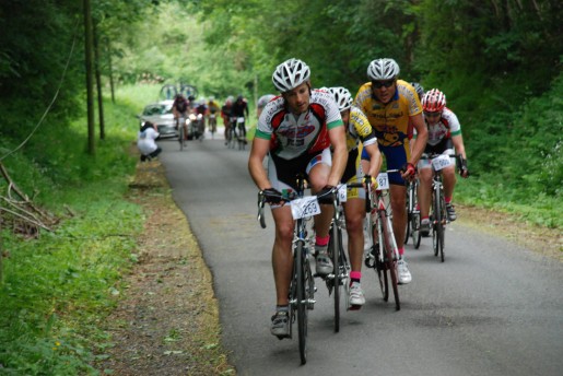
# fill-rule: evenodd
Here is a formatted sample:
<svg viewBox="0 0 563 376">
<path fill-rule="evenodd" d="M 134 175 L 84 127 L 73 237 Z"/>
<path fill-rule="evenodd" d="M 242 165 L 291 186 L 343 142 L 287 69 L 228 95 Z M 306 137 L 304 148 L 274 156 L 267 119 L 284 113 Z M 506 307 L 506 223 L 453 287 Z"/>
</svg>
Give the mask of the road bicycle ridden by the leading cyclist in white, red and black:
<svg viewBox="0 0 563 376">
<path fill-rule="evenodd" d="M 315 306 L 315 281 L 310 269 L 308 256 L 314 249 L 312 237 L 308 236 L 307 222 L 320 213 L 316 196 L 305 197 L 305 177 L 297 176 L 297 190 L 291 197 L 280 197 L 291 204 L 292 215 L 295 219 L 293 231 L 293 271 L 290 283 L 290 334 L 293 337 L 293 324 L 297 321 L 301 363 L 307 362 L 307 319 L 308 310 Z M 262 191 L 258 193 L 258 220 L 266 228 L 263 207 L 266 197 Z M 280 338 L 280 340 L 283 339 Z"/>
</svg>

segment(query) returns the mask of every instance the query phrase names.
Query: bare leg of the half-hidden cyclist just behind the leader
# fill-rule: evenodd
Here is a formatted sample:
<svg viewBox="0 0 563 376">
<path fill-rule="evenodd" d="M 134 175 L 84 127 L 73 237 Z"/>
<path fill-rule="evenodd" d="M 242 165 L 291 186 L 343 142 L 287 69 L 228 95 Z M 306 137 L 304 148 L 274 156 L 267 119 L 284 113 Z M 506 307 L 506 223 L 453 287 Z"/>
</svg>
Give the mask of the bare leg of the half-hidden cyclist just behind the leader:
<svg viewBox="0 0 563 376">
<path fill-rule="evenodd" d="M 344 203 L 348 232 L 348 254 L 352 271 L 362 271 L 364 254 L 365 200 L 353 198 Z"/>
</svg>

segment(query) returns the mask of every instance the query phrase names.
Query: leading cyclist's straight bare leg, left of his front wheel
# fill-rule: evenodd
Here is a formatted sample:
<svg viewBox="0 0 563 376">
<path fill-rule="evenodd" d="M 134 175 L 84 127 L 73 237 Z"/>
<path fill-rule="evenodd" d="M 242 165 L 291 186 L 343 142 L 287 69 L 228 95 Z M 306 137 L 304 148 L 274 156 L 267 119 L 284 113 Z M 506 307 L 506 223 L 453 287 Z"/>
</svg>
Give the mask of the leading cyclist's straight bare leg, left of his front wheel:
<svg viewBox="0 0 563 376">
<path fill-rule="evenodd" d="M 278 305 L 288 305 L 291 272 L 293 268 L 293 228 L 291 207 L 284 205 L 272 209 L 275 222 L 275 239 L 272 249 L 273 281 L 275 283 L 275 302 Z"/>
</svg>

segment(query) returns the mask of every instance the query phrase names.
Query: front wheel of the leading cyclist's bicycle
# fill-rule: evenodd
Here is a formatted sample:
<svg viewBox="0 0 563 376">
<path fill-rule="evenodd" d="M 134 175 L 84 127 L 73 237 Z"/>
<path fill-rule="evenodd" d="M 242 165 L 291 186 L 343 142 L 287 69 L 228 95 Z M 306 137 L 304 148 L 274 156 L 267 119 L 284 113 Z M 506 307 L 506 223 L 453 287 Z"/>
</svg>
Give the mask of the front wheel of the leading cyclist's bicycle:
<svg viewBox="0 0 563 376">
<path fill-rule="evenodd" d="M 303 249 L 303 242 L 297 243 L 295 249 L 295 270 L 297 279 L 297 330 L 300 337 L 300 356 L 301 364 L 307 363 L 307 313 L 308 313 L 308 301 L 307 301 L 307 283 L 306 278 L 306 260 Z"/>
</svg>

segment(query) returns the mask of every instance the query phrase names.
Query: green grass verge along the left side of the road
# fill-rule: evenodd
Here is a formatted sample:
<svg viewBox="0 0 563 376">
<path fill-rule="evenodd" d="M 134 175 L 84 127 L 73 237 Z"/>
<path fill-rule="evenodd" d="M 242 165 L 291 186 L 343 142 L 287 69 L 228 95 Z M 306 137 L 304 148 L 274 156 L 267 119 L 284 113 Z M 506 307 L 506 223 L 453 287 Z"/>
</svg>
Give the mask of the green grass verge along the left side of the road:
<svg viewBox="0 0 563 376">
<path fill-rule="evenodd" d="M 1 233 L 9 257 L 0 287 L 0 373 L 97 373 L 89 364 L 110 345 L 98 328 L 124 289 L 119 281 L 136 260 L 144 221 L 141 208 L 126 199 L 139 108 L 105 103 L 107 137 L 96 141 L 95 156 L 85 153 L 85 120 L 79 119 L 40 129 L 25 153 L 4 161 L 16 185 L 30 196 L 38 192 L 35 202 L 61 222 L 38 239 Z"/>
</svg>

